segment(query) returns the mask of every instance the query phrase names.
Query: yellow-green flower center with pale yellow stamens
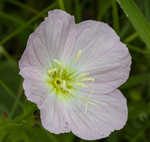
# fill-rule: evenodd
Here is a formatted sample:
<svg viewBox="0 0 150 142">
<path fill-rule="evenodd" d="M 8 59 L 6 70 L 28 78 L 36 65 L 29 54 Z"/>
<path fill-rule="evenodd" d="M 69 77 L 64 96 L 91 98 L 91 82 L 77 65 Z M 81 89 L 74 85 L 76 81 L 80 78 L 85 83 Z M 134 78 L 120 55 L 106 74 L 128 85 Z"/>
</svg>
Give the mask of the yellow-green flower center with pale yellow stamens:
<svg viewBox="0 0 150 142">
<path fill-rule="evenodd" d="M 74 64 L 78 61 L 81 51 L 78 52 L 74 60 Z M 46 82 L 50 86 L 50 91 L 57 97 L 68 100 L 75 97 L 79 88 L 87 87 L 87 81 L 93 81 L 91 77 L 87 77 L 89 73 L 79 73 L 76 69 L 65 65 L 59 60 L 53 60 L 48 70 L 48 78 Z"/>
</svg>

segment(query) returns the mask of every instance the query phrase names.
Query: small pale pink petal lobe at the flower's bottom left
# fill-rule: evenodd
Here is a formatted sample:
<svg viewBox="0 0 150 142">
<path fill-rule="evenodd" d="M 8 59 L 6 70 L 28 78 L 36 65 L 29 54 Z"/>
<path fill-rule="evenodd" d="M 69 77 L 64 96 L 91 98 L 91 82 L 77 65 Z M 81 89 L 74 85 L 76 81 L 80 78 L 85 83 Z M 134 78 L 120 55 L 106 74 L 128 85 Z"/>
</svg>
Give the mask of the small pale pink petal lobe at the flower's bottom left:
<svg viewBox="0 0 150 142">
<path fill-rule="evenodd" d="M 55 94 L 49 95 L 39 107 L 43 127 L 55 134 L 70 132 L 66 107 Z"/>
</svg>

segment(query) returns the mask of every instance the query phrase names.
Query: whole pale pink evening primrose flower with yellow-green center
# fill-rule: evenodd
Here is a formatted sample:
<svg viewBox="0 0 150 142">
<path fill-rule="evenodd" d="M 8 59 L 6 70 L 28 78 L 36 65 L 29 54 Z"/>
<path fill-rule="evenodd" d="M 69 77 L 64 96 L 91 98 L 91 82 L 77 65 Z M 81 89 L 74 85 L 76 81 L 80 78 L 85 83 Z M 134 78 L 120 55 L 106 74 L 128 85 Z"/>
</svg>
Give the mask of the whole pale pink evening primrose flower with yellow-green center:
<svg viewBox="0 0 150 142">
<path fill-rule="evenodd" d="M 30 35 L 19 67 L 25 95 L 40 109 L 45 129 L 94 140 L 127 121 L 126 99 L 117 88 L 130 64 L 127 47 L 110 26 L 75 24 L 70 14 L 53 10 Z"/>
</svg>

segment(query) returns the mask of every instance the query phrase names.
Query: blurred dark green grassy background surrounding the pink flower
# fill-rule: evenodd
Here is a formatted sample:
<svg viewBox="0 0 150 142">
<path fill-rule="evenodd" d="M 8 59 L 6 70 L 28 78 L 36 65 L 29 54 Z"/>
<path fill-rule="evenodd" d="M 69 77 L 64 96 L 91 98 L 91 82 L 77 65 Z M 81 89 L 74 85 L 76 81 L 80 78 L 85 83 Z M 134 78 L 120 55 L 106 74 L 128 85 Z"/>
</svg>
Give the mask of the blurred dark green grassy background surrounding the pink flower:
<svg viewBox="0 0 150 142">
<path fill-rule="evenodd" d="M 84 142 L 71 133 L 54 135 L 42 128 L 39 110 L 26 100 L 18 75 L 18 60 L 29 34 L 48 10 L 56 8 L 74 15 L 77 23 L 87 19 L 108 23 L 132 56 L 130 78 L 120 88 L 128 100 L 128 122 L 122 130 L 98 141 L 150 141 L 150 0 L 118 2 L 0 0 L 0 142 Z"/>
</svg>

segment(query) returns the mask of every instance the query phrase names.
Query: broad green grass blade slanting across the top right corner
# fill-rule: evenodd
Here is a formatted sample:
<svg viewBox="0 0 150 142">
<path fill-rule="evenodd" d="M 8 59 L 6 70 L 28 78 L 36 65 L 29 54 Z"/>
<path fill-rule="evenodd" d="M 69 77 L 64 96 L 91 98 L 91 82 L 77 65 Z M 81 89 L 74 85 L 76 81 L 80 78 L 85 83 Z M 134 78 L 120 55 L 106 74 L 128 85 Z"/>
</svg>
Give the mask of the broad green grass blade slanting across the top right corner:
<svg viewBox="0 0 150 142">
<path fill-rule="evenodd" d="M 118 0 L 118 3 L 133 24 L 139 36 L 150 49 L 150 24 L 133 0 Z"/>
</svg>

